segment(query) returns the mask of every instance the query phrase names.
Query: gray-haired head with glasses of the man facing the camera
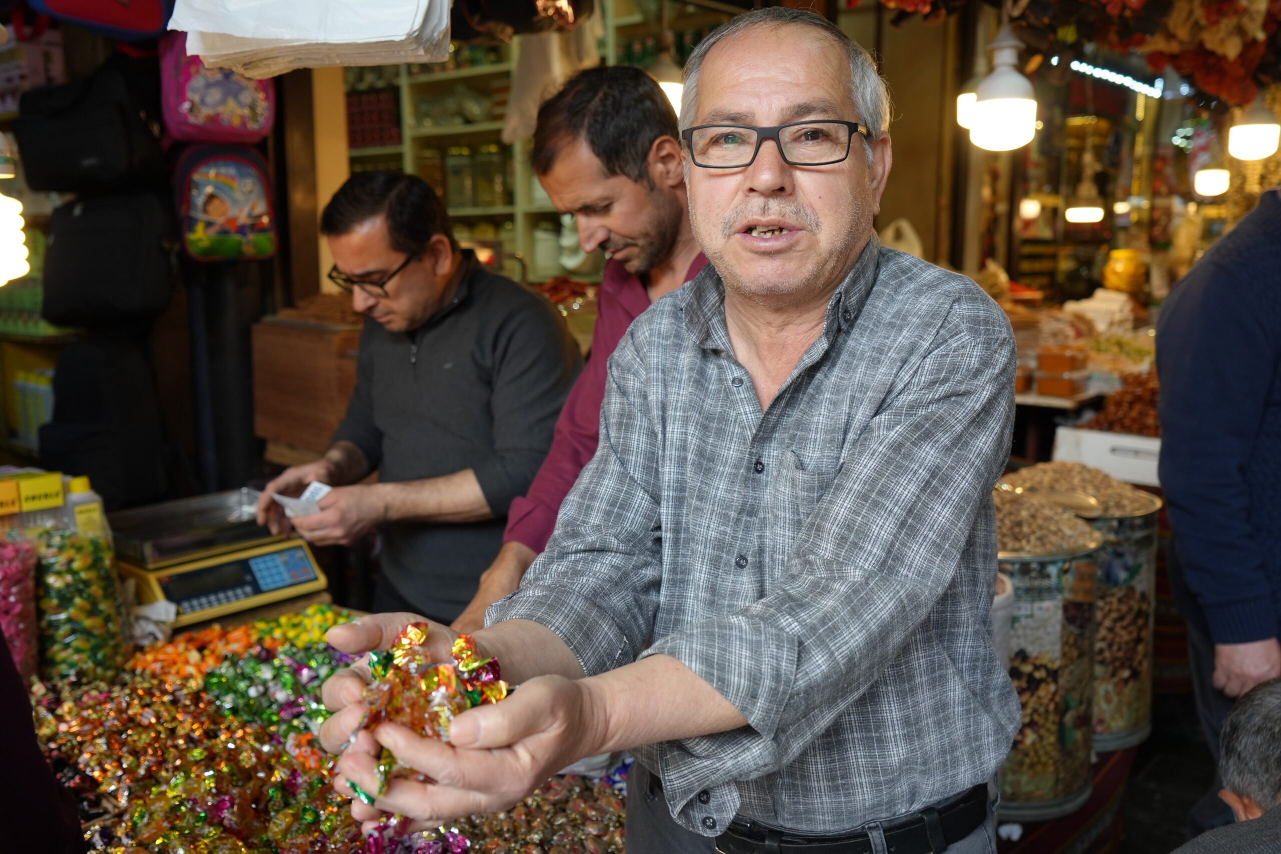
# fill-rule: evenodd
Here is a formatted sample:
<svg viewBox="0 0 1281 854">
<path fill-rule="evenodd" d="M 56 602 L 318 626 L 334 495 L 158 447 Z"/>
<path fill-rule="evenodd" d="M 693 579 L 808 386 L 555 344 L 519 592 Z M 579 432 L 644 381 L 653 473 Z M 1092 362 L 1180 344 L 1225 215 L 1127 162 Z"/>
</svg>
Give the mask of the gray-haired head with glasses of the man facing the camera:
<svg viewBox="0 0 1281 854">
<path fill-rule="evenodd" d="M 889 109 L 867 51 L 813 13 L 746 14 L 699 42 L 680 132 L 694 236 L 728 291 L 804 303 L 849 271 L 889 177 Z"/>
</svg>

